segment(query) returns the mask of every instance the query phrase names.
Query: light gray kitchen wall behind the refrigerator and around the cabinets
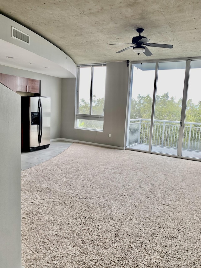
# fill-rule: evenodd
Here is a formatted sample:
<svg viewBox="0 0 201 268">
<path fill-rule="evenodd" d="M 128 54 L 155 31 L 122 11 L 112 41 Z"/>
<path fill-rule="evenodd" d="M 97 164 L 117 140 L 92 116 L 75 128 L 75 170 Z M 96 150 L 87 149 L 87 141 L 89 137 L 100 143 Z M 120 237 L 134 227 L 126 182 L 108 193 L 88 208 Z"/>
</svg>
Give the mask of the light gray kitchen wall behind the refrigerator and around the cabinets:
<svg viewBox="0 0 201 268">
<path fill-rule="evenodd" d="M 0 73 L 41 80 L 41 96 L 51 97 L 51 139 L 61 137 L 62 79 L 0 65 Z M 20 93 L 19 93 L 20 94 Z"/>
</svg>

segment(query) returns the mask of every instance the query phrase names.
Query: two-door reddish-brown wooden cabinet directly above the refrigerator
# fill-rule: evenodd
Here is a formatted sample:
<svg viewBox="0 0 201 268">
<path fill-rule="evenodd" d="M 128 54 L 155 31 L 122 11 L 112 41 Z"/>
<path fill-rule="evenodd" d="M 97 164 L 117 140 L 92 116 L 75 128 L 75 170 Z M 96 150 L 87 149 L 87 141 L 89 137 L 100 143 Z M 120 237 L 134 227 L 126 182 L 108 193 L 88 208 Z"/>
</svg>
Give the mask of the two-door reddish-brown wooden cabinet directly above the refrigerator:
<svg viewBox="0 0 201 268">
<path fill-rule="evenodd" d="M 40 93 L 40 80 L 16 76 L 16 91 Z"/>
</svg>

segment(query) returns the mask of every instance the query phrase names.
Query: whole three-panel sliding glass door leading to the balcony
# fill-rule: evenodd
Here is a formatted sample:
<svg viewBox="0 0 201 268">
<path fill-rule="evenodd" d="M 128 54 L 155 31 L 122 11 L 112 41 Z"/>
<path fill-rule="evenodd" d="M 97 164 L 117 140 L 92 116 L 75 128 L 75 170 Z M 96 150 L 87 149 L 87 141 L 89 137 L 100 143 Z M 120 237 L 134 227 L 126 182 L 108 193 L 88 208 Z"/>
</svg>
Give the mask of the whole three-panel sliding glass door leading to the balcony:
<svg viewBox="0 0 201 268">
<path fill-rule="evenodd" d="M 201 60 L 132 64 L 127 148 L 201 159 Z"/>
</svg>

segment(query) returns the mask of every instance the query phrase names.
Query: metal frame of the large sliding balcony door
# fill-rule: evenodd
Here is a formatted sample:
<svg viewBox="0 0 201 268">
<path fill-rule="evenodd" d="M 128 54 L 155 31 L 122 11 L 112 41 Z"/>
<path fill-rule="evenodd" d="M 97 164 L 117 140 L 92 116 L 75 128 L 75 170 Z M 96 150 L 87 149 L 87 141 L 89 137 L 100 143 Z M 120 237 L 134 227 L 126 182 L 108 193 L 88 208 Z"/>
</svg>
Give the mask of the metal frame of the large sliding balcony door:
<svg viewBox="0 0 201 268">
<path fill-rule="evenodd" d="M 128 144 L 128 131 L 129 131 L 129 119 L 130 119 L 130 103 L 131 103 L 131 95 L 132 95 L 132 74 L 133 74 L 133 64 L 138 64 L 138 62 L 130 62 L 130 70 L 129 70 L 129 83 L 128 83 L 128 107 L 127 107 L 127 128 L 126 128 L 126 135 L 125 135 L 125 149 L 126 150 L 136 150 L 136 151 L 143 151 L 147 153 L 152 154 L 159 154 L 159 155 L 165 155 L 165 156 L 172 156 L 172 157 L 179 157 L 189 160 L 196 160 L 201 161 L 201 159 L 198 158 L 192 158 L 192 157 L 186 157 L 182 156 L 182 145 L 183 145 L 183 135 L 184 135 L 184 126 L 185 126 L 185 116 L 186 116 L 186 105 L 187 105 L 187 92 L 188 92 L 188 82 L 189 82 L 189 76 L 190 76 L 190 67 L 191 67 L 191 61 L 192 60 L 201 60 L 200 57 L 193 57 L 193 58 L 180 58 L 180 59 L 162 59 L 162 60 L 151 60 L 151 61 L 142 61 L 142 63 L 151 63 L 155 62 L 155 81 L 154 81 L 154 93 L 153 93 L 153 103 L 152 103 L 152 112 L 151 112 L 151 124 L 150 124 L 150 133 L 149 133 L 149 150 L 139 150 L 134 148 L 127 147 Z M 151 151 L 152 147 L 152 138 L 153 138 L 153 127 L 154 127 L 154 113 L 155 113 L 155 100 L 156 100 L 156 89 L 157 89 L 157 79 L 158 79 L 158 67 L 159 63 L 165 63 L 165 62 L 176 62 L 176 61 L 186 61 L 186 70 L 185 70 L 185 77 L 184 77 L 184 87 L 183 87 L 183 96 L 182 96 L 182 109 L 181 109 L 181 119 L 180 119 L 180 129 L 179 129 L 179 137 L 178 137 L 178 147 L 177 147 L 177 155 L 171 155 L 166 153 L 158 153 Z"/>
</svg>

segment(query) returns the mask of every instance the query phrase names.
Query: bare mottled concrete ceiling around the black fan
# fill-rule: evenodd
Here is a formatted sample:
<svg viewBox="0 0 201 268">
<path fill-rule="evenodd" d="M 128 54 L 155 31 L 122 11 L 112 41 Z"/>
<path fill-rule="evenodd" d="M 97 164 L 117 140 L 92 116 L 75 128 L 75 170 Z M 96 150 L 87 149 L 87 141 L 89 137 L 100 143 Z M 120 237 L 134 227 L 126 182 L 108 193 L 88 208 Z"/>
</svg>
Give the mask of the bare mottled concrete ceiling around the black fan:
<svg viewBox="0 0 201 268">
<path fill-rule="evenodd" d="M 200 0 L 0 0 L 0 12 L 33 30 L 76 64 L 201 56 Z M 137 28 L 151 43 L 146 57 L 128 49 Z"/>
</svg>

